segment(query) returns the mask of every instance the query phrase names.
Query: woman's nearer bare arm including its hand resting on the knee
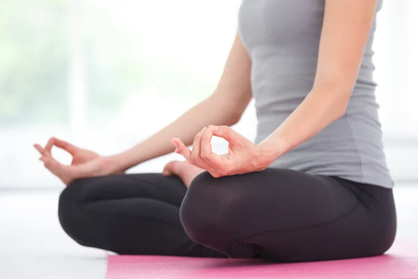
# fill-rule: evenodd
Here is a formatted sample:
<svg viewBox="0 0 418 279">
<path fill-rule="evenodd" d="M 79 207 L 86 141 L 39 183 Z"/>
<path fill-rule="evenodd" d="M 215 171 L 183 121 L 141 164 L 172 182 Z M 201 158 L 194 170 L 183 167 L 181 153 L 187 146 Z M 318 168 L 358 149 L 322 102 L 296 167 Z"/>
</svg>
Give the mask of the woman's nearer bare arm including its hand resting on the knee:
<svg viewBox="0 0 418 279">
<path fill-rule="evenodd" d="M 212 176 L 255 172 L 341 117 L 355 86 L 377 0 L 326 0 L 314 86 L 307 97 L 263 142 L 254 145 L 228 126 L 209 126 L 198 134 L 193 151 L 176 140 L 178 151 Z M 229 142 L 229 153 L 212 153 L 212 135 Z M 201 146 L 194 156 L 195 146 Z M 196 155 L 196 154 L 195 154 Z"/>
</svg>

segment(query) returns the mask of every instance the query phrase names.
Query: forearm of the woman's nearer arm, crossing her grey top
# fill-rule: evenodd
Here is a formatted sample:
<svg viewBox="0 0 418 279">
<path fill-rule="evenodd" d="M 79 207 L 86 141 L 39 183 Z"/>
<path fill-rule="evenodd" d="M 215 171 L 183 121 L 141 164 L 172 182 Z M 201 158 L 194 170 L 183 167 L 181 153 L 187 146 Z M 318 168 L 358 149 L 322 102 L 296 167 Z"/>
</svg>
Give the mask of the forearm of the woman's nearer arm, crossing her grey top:
<svg viewBox="0 0 418 279">
<path fill-rule="evenodd" d="M 339 119 L 350 97 L 350 92 L 339 91 L 332 85 L 313 89 L 286 121 L 258 144 L 263 156 L 273 161 Z"/>
</svg>

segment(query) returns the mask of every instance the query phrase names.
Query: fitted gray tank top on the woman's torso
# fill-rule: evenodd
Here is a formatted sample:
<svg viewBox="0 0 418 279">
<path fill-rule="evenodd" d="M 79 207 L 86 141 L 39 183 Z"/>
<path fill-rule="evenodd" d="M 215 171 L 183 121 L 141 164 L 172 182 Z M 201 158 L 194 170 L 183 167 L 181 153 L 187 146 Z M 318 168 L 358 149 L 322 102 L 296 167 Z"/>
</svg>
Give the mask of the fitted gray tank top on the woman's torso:
<svg viewBox="0 0 418 279">
<path fill-rule="evenodd" d="M 378 10 L 382 0 L 378 1 Z M 314 85 L 325 0 L 243 0 L 239 32 L 251 57 L 258 118 L 256 143 L 268 137 Z M 271 167 L 339 176 L 392 188 L 375 98 L 373 33 L 346 114 Z"/>
</svg>

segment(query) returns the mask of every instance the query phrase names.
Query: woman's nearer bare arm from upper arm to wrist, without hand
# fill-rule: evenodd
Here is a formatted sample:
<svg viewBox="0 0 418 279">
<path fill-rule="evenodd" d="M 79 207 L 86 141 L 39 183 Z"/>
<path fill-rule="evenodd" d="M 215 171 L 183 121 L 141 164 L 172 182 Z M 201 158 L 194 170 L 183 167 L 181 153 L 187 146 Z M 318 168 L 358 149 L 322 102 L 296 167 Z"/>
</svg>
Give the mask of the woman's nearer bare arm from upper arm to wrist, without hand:
<svg viewBox="0 0 418 279">
<path fill-rule="evenodd" d="M 376 0 L 325 1 L 314 87 L 288 119 L 259 144 L 265 156 L 281 156 L 346 112 L 375 11 Z"/>
</svg>

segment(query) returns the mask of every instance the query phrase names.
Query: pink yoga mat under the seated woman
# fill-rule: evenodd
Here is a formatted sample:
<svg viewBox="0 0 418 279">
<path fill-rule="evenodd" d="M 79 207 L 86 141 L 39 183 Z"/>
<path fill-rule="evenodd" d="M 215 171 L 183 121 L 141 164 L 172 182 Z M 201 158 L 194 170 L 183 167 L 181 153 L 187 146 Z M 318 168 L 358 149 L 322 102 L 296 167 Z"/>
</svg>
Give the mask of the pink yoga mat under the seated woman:
<svg viewBox="0 0 418 279">
<path fill-rule="evenodd" d="M 418 245 L 396 241 L 379 257 L 272 264 L 254 259 L 110 256 L 107 279 L 418 278 Z"/>
</svg>

